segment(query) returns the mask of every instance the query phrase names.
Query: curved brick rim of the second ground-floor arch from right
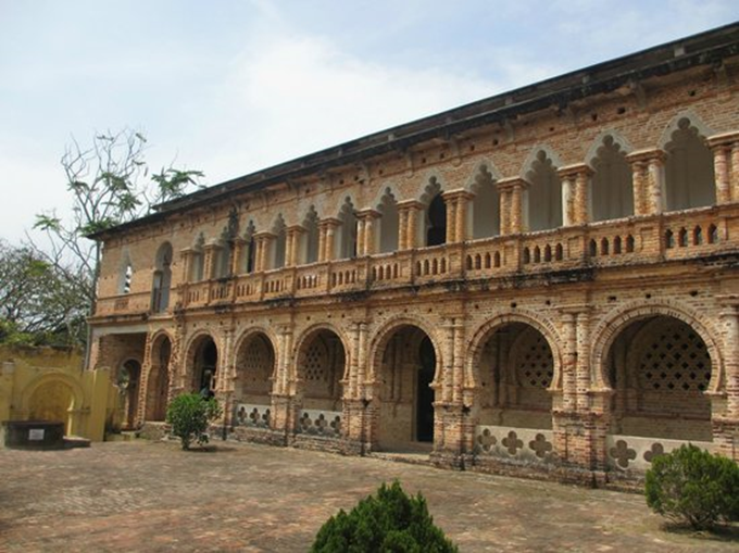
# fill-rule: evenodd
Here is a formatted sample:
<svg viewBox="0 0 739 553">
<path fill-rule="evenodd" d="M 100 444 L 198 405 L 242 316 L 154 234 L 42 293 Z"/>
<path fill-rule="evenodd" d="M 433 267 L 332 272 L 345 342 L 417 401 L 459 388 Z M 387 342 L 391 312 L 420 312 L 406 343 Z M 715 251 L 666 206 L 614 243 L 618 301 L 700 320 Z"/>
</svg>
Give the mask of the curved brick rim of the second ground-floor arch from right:
<svg viewBox="0 0 739 553">
<path fill-rule="evenodd" d="M 473 388 L 479 385 L 479 360 L 488 339 L 497 330 L 512 323 L 528 325 L 544 337 L 549 349 L 552 350 L 554 368 L 552 384 L 549 389 L 560 390 L 562 388 L 562 352 L 559 344 L 562 343 L 562 338 L 551 321 L 528 310 L 518 310 L 516 313 L 500 313 L 478 326 L 473 337 L 467 341 L 465 388 Z"/>
</svg>

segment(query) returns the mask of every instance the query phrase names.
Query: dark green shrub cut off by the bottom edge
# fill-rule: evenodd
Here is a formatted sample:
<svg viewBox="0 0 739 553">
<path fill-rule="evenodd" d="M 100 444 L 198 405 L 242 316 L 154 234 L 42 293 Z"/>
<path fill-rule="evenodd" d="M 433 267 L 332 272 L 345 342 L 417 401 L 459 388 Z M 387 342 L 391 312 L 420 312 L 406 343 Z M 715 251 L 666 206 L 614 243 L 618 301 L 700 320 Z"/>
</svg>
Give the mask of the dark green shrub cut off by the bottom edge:
<svg viewBox="0 0 739 553">
<path fill-rule="evenodd" d="M 434 525 L 426 500 L 409 497 L 398 481 L 385 483 L 376 495 L 360 501 L 349 513 L 339 511 L 324 524 L 311 548 L 315 553 L 456 552 L 456 546 Z"/>
</svg>

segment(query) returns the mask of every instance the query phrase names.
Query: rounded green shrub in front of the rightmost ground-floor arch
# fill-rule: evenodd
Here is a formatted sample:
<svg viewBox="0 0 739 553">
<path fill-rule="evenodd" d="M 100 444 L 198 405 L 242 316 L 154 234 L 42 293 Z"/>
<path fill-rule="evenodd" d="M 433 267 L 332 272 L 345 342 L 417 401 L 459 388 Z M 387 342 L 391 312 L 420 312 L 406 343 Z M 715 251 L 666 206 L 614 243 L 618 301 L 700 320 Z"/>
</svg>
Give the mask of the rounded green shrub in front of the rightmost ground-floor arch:
<svg viewBox="0 0 739 553">
<path fill-rule="evenodd" d="M 696 445 L 682 445 L 654 458 L 646 494 L 654 512 L 698 530 L 739 520 L 739 466 Z"/>
</svg>

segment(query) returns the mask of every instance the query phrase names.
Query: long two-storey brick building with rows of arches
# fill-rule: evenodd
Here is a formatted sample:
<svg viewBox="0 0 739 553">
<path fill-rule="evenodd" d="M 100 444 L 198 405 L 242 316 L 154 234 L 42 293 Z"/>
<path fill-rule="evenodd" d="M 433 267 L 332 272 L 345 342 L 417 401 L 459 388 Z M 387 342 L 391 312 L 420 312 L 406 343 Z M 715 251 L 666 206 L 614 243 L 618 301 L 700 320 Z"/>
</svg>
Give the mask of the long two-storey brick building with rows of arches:
<svg viewBox="0 0 739 553">
<path fill-rule="evenodd" d="M 739 458 L 739 24 L 107 230 L 91 367 L 131 425 L 609 481 Z"/>
</svg>

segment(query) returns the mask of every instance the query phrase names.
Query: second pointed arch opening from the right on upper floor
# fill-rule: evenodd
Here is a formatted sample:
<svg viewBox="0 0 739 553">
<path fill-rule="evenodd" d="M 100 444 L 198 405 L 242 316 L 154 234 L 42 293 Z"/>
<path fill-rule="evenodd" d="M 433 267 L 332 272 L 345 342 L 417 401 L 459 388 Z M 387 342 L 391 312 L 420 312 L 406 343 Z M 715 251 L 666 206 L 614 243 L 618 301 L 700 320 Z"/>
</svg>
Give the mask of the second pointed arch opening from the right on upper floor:
<svg viewBox="0 0 739 553">
<path fill-rule="evenodd" d="M 592 219 L 609 221 L 634 215 L 631 167 L 626 161 L 630 148 L 617 135 L 605 134 L 593 142 L 587 163 L 593 169 L 591 178 Z"/>
</svg>

